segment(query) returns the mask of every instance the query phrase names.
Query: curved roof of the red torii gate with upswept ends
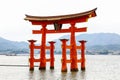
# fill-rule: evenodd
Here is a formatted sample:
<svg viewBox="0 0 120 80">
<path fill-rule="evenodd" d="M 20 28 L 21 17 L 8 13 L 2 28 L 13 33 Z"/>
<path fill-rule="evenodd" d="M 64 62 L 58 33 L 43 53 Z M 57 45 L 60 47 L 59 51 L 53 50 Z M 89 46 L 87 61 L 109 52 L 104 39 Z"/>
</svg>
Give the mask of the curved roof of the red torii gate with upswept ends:
<svg viewBox="0 0 120 80">
<path fill-rule="evenodd" d="M 53 24 L 55 22 L 58 23 L 69 23 L 71 20 L 75 22 L 82 22 L 80 19 L 88 19 L 96 16 L 96 9 L 92 9 L 86 12 L 76 13 L 76 14 L 68 14 L 68 15 L 58 15 L 58 16 L 31 16 L 26 15 L 25 20 L 29 20 L 30 22 L 37 22 L 38 24 L 47 23 Z M 86 22 L 86 21 L 83 21 Z"/>
</svg>

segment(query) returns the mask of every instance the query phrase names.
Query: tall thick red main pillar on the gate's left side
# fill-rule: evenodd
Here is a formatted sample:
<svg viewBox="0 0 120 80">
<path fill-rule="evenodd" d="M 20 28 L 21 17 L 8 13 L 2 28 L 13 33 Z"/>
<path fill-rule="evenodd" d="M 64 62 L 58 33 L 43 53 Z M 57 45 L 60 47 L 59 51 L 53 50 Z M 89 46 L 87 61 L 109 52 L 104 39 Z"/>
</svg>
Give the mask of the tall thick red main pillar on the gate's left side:
<svg viewBox="0 0 120 80">
<path fill-rule="evenodd" d="M 39 70 L 45 70 L 46 69 L 46 24 L 42 25 L 42 41 L 41 41 L 41 53 L 40 53 L 40 67 Z"/>
</svg>

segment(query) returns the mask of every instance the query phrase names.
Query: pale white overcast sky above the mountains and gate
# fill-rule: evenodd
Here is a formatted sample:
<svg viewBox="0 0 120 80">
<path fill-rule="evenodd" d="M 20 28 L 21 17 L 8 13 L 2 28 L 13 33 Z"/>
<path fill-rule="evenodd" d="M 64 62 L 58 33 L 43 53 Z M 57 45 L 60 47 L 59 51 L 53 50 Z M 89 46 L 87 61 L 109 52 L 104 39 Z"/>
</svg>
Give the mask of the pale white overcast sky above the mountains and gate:
<svg viewBox="0 0 120 80">
<path fill-rule="evenodd" d="M 25 21 L 25 14 L 34 16 L 64 15 L 84 12 L 98 8 L 97 17 L 89 19 L 85 24 L 85 33 L 118 33 L 120 34 L 120 4 L 119 0 L 1 0 L 0 1 L 0 37 L 13 41 L 40 39 L 40 35 L 32 35 L 32 26 Z M 53 37 L 54 36 L 54 37 Z M 58 38 L 57 34 L 49 35 L 47 39 Z"/>
</svg>

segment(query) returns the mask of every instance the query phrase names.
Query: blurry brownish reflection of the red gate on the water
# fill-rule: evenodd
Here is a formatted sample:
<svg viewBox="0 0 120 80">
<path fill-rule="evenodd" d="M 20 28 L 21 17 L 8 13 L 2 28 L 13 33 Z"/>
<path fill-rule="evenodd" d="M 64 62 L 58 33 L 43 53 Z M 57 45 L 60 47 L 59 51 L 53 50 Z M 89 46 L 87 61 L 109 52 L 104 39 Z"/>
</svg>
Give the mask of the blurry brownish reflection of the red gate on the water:
<svg viewBox="0 0 120 80">
<path fill-rule="evenodd" d="M 36 70 L 29 72 L 29 80 L 86 80 L 85 72 L 58 72 L 57 70 Z"/>
</svg>

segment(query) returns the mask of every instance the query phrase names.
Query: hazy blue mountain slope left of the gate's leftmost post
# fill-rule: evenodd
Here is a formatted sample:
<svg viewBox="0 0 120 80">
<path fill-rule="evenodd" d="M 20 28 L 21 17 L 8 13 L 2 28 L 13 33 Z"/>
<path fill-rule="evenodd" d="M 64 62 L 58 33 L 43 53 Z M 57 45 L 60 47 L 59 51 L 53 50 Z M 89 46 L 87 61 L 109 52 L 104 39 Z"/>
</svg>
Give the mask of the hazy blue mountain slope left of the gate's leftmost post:
<svg viewBox="0 0 120 80">
<path fill-rule="evenodd" d="M 10 41 L 0 37 L 0 52 L 4 53 L 27 53 L 28 43 Z"/>
</svg>

